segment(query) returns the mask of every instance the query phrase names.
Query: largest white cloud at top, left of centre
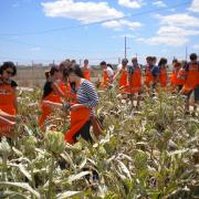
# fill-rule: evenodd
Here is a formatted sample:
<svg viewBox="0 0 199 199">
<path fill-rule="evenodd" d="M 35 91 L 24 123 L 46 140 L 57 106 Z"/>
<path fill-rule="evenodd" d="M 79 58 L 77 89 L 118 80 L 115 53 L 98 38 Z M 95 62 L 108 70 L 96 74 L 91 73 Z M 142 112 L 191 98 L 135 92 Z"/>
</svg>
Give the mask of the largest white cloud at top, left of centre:
<svg viewBox="0 0 199 199">
<path fill-rule="evenodd" d="M 42 2 L 41 4 L 46 17 L 70 18 L 81 21 L 82 23 L 92 23 L 124 17 L 123 12 L 111 8 L 107 2 L 56 0 Z"/>
</svg>

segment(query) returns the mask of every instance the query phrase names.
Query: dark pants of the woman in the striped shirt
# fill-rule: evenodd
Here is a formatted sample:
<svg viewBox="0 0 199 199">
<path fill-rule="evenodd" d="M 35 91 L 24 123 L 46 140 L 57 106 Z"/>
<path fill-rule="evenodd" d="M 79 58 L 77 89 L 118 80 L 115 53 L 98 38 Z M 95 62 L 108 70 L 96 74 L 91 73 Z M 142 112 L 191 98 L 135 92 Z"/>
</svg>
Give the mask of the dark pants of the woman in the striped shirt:
<svg viewBox="0 0 199 199">
<path fill-rule="evenodd" d="M 91 127 L 91 121 L 87 121 L 84 126 L 74 135 L 74 139 L 76 139 L 78 136 L 84 138 L 86 142 L 92 142 L 92 137 L 90 134 L 90 127 Z"/>
</svg>

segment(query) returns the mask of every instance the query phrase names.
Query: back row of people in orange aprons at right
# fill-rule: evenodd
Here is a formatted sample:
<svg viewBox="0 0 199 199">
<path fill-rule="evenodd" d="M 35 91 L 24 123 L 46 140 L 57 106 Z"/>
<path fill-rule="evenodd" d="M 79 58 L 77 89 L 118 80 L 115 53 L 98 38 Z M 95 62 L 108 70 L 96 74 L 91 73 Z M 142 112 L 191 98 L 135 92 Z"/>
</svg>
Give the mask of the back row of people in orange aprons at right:
<svg viewBox="0 0 199 199">
<path fill-rule="evenodd" d="M 155 95 L 159 88 L 167 92 L 177 92 L 186 96 L 186 113 L 189 113 L 189 100 L 195 96 L 193 111 L 199 104 L 199 62 L 196 53 L 190 54 L 190 61 L 172 60 L 172 70 L 169 72 L 167 59 L 161 57 L 157 64 L 155 56 L 146 57 L 146 65 L 138 64 L 137 57 L 132 59 L 128 64 L 127 59 L 123 59 L 117 72 L 114 72 L 111 64 L 101 62 L 103 69 L 103 82 L 97 85 L 102 88 L 112 87 L 113 83 L 119 88 L 123 98 L 137 95 L 137 106 L 140 105 L 142 93 L 147 91 Z"/>
</svg>

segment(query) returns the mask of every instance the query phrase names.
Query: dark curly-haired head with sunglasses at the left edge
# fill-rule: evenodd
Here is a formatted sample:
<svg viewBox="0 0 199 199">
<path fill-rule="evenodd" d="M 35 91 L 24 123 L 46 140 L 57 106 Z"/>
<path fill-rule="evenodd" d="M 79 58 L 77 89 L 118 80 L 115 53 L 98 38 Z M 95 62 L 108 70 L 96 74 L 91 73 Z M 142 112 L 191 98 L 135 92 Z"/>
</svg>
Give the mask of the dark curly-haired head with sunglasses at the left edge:
<svg viewBox="0 0 199 199">
<path fill-rule="evenodd" d="M 13 62 L 4 62 L 0 67 L 0 75 L 9 80 L 17 74 L 17 67 Z"/>
</svg>

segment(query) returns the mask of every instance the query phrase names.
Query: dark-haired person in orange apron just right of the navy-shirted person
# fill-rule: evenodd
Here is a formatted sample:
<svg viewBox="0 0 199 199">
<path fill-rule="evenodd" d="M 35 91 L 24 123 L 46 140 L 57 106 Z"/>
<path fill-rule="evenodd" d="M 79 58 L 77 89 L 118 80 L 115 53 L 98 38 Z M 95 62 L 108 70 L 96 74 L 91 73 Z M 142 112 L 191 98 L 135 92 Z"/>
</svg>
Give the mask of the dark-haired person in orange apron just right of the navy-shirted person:
<svg viewBox="0 0 199 199">
<path fill-rule="evenodd" d="M 158 63 L 159 66 L 159 83 L 163 88 L 167 86 L 167 59 L 161 57 Z"/>
</svg>

